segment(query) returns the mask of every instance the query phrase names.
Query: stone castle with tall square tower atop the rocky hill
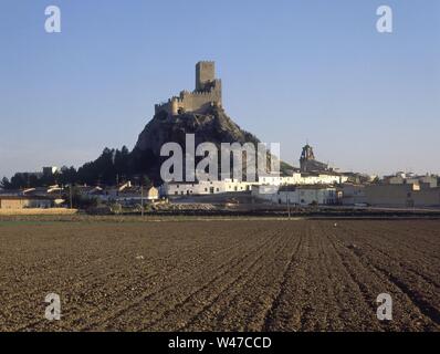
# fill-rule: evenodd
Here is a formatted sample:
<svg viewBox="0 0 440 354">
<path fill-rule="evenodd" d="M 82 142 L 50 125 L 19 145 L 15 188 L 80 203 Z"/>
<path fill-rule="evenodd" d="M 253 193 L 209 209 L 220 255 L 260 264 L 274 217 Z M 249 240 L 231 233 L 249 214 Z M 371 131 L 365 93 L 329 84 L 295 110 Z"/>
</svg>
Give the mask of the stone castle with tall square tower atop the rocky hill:
<svg viewBox="0 0 440 354">
<path fill-rule="evenodd" d="M 174 96 L 166 103 L 156 104 L 155 113 L 165 111 L 168 115 L 205 114 L 209 107 L 221 107 L 221 80 L 216 79 L 216 64 L 201 61 L 196 64 L 196 90 L 181 91 L 179 96 Z"/>
</svg>

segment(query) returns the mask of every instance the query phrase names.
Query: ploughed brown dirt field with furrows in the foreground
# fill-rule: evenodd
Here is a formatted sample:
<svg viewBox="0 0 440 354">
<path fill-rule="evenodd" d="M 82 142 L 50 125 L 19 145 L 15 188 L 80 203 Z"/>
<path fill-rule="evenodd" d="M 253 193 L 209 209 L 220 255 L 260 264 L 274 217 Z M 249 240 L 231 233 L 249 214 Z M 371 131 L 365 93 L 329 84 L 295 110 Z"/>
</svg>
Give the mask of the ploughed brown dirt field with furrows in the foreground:
<svg viewBox="0 0 440 354">
<path fill-rule="evenodd" d="M 434 220 L 0 221 L 0 246 L 2 331 L 440 330 Z"/>
</svg>

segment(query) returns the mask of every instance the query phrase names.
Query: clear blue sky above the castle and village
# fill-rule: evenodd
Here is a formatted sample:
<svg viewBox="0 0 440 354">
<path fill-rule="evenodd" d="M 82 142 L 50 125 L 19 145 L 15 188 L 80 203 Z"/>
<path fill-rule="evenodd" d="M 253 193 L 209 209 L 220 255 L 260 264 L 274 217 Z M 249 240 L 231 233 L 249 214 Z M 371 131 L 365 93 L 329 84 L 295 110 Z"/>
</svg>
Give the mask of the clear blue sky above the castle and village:
<svg viewBox="0 0 440 354">
<path fill-rule="evenodd" d="M 44 31 L 44 9 L 62 33 Z M 394 10 L 394 33 L 376 9 Z M 440 1 L 1 0 L 0 177 L 133 148 L 214 60 L 223 105 L 297 165 L 440 173 Z"/>
</svg>

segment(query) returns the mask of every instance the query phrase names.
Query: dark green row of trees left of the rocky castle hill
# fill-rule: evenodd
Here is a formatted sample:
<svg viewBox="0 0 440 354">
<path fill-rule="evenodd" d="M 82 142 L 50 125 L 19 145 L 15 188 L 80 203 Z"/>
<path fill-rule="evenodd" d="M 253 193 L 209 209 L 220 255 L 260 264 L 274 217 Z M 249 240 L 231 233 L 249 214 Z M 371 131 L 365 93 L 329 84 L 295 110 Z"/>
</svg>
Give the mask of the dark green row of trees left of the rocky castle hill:
<svg viewBox="0 0 440 354">
<path fill-rule="evenodd" d="M 41 176 L 17 173 L 10 180 L 4 177 L 0 181 L 0 188 L 21 189 L 84 184 L 113 186 L 129 179 L 138 179 L 140 183 L 139 178 L 145 184 L 148 178 L 143 175 L 147 174 L 148 165 L 148 162 L 139 159 L 126 146 L 123 146 L 122 149 L 106 147 L 96 160 L 86 163 L 78 169 L 64 166 L 54 175 Z"/>
</svg>

